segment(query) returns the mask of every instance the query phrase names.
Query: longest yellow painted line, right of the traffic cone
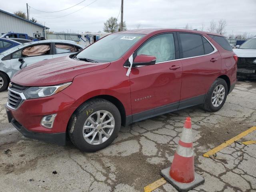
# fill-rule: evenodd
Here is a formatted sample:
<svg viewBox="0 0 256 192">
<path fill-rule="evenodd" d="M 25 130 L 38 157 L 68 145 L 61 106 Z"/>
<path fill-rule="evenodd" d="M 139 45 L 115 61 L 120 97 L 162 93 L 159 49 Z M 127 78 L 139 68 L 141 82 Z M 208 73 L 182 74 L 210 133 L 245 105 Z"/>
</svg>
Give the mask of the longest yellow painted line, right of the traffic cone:
<svg viewBox="0 0 256 192">
<path fill-rule="evenodd" d="M 220 144 L 218 147 L 206 152 L 205 154 L 203 154 L 204 157 L 210 157 L 210 155 L 215 154 L 216 152 L 224 149 L 226 146 L 229 146 L 230 144 L 234 143 L 234 141 L 239 140 L 240 138 L 243 138 L 244 136 L 248 135 L 249 133 L 253 132 L 256 130 L 256 126 L 251 127 L 250 129 L 240 133 L 239 135 L 233 137 L 232 139 Z"/>
</svg>

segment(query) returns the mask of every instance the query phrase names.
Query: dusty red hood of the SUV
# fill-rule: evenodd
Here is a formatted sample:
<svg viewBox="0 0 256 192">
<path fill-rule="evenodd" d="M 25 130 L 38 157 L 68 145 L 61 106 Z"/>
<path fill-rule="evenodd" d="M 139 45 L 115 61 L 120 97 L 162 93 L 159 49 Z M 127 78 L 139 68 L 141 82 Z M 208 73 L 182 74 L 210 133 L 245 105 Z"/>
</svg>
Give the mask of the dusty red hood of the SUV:
<svg viewBox="0 0 256 192">
<path fill-rule="evenodd" d="M 23 86 L 50 86 L 71 82 L 77 75 L 101 70 L 109 65 L 110 62 L 84 62 L 65 56 L 28 66 L 18 71 L 11 81 Z"/>
</svg>

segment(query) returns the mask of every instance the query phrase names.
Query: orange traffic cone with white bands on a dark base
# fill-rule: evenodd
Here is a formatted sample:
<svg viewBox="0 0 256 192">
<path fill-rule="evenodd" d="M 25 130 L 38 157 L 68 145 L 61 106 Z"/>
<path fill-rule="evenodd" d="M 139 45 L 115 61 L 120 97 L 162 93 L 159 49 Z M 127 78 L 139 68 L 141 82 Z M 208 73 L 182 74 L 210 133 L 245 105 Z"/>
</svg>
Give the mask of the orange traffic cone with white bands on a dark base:
<svg viewBox="0 0 256 192">
<path fill-rule="evenodd" d="M 171 167 L 163 169 L 161 175 L 178 191 L 188 191 L 202 183 L 204 178 L 195 173 L 192 143 L 191 118 L 187 117 L 174 154 Z"/>
</svg>

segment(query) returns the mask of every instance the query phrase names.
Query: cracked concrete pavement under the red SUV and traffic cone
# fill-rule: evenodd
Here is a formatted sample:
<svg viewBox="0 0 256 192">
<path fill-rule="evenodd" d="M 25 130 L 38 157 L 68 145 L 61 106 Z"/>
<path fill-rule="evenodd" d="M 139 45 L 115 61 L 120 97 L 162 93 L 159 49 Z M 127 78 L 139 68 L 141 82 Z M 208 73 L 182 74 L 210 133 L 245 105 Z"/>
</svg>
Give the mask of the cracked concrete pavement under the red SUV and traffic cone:
<svg viewBox="0 0 256 192">
<path fill-rule="evenodd" d="M 24 138 L 7 122 L 7 92 L 0 93 L 0 191 L 137 192 L 170 166 L 186 116 L 192 118 L 195 170 L 205 183 L 191 191 L 256 192 L 256 131 L 216 155 L 202 156 L 256 126 L 256 82 L 237 82 L 215 113 L 194 106 L 122 127 L 104 150 L 82 153 L 70 142 L 58 146 Z M 10 152 L 4 154 L 4 150 Z M 57 174 L 52 174 L 56 170 Z M 30 179 L 32 181 L 30 181 Z M 175 192 L 168 183 L 154 192 Z"/>
</svg>

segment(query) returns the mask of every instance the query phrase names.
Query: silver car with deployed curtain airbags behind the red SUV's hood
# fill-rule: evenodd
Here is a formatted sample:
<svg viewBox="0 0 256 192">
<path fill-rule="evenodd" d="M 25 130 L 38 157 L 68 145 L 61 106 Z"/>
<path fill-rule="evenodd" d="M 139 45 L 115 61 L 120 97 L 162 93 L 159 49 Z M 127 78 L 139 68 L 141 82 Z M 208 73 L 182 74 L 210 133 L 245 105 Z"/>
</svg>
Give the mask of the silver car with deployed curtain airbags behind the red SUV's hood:
<svg viewBox="0 0 256 192">
<path fill-rule="evenodd" d="M 20 44 L 0 53 L 0 92 L 6 90 L 12 76 L 36 62 L 74 54 L 83 47 L 74 41 L 42 40 Z"/>
</svg>

